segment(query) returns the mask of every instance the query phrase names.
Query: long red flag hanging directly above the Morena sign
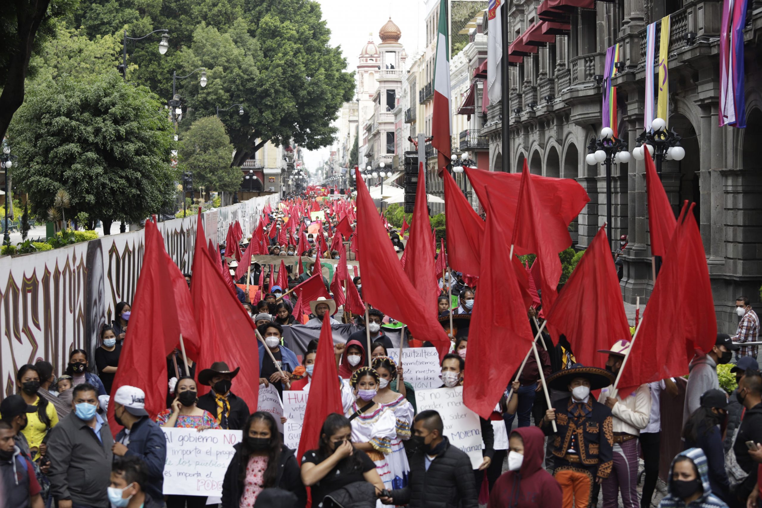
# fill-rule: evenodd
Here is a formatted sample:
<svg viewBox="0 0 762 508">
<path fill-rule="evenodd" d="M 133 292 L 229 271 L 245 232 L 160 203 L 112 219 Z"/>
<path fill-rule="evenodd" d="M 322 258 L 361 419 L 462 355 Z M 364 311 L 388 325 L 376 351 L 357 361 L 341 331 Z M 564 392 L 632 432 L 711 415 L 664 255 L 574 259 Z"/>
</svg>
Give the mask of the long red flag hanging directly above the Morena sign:
<svg viewBox="0 0 762 508">
<path fill-rule="evenodd" d="M 510 232 L 498 220 L 493 206 L 493 203 L 502 206 L 501 196 L 491 190 L 488 195 L 493 201 L 487 203 L 479 276 L 479 294 L 485 297 L 474 302 L 469 361 L 463 375 L 463 402 L 484 418 L 495 409 L 534 338 L 516 270 L 505 270 L 514 262 L 505 241 Z"/>
</svg>

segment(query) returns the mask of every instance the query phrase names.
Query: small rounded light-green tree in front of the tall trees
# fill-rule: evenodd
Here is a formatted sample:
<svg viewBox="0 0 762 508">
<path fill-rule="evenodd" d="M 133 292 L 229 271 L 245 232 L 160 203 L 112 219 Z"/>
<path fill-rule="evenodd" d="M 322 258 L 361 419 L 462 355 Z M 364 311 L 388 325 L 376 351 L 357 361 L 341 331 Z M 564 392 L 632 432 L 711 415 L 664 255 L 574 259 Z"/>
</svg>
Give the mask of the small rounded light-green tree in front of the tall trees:
<svg viewBox="0 0 762 508">
<path fill-rule="evenodd" d="M 233 145 L 217 117 L 196 120 L 178 149 L 182 169 L 193 172 L 194 186 L 217 192 L 241 188 L 241 168 L 231 167 L 232 155 Z"/>
</svg>

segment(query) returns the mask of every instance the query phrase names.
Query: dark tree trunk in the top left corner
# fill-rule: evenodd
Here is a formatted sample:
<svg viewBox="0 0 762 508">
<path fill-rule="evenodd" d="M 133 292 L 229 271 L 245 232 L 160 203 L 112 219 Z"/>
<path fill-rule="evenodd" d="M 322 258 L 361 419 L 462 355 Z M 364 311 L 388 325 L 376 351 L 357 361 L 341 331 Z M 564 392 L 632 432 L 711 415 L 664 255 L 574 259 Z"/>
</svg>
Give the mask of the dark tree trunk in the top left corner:
<svg viewBox="0 0 762 508">
<path fill-rule="evenodd" d="M 24 102 L 24 87 L 31 56 L 56 30 L 55 20 L 69 11 L 77 0 L 14 0 L 0 8 L 0 139 L 14 113 Z"/>
</svg>

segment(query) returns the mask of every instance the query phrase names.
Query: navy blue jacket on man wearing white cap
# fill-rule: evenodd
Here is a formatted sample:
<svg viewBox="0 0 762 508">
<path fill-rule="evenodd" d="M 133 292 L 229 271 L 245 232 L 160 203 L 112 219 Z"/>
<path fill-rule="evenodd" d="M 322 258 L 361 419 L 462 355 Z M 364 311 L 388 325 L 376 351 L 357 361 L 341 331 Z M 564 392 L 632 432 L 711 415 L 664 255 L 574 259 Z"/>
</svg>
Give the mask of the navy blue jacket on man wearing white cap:
<svg viewBox="0 0 762 508">
<path fill-rule="evenodd" d="M 117 434 L 115 442 L 121 443 L 126 436 L 126 429 Z M 149 417 L 136 421 L 130 430 L 130 443 L 127 444 L 126 455 L 136 455 L 146 462 L 147 476 L 146 492 L 156 500 L 164 499 L 164 463 L 167 458 L 167 442 L 162 428 Z"/>
</svg>

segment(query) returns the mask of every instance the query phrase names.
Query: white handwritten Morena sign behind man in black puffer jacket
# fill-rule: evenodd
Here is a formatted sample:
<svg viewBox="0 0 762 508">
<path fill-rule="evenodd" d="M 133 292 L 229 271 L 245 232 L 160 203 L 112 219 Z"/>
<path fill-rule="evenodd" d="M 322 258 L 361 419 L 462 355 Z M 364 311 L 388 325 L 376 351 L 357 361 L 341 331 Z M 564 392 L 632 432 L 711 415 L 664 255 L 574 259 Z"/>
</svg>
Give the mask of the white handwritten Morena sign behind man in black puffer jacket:
<svg viewBox="0 0 762 508">
<path fill-rule="evenodd" d="M 437 411 L 450 444 L 469 455 L 474 469 L 482 465 L 482 427 L 479 416 L 463 404 L 463 386 L 416 391 L 415 404 L 418 413 Z"/>
</svg>

